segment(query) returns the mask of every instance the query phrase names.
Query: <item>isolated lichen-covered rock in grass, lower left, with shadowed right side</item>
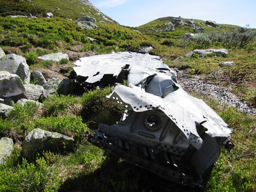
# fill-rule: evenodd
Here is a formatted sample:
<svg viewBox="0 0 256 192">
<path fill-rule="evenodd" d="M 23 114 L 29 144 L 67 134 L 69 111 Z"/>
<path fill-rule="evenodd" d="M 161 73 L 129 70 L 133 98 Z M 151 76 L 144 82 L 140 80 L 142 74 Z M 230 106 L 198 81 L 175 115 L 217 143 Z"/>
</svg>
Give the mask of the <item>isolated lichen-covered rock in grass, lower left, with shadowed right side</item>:
<svg viewBox="0 0 256 192">
<path fill-rule="evenodd" d="M 28 160 L 33 160 L 39 151 L 71 151 L 73 144 L 73 138 L 36 128 L 29 132 L 23 141 L 21 154 Z"/>
</svg>

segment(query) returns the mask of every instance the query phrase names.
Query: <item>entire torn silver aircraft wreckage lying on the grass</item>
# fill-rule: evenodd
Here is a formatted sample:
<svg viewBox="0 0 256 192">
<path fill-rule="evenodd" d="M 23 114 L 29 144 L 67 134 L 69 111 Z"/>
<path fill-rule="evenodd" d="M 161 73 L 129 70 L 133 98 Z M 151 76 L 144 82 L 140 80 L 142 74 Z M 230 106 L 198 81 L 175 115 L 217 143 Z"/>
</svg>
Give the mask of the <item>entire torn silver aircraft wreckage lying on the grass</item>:
<svg viewBox="0 0 256 192">
<path fill-rule="evenodd" d="M 203 100 L 185 92 L 159 56 L 119 52 L 74 64 L 78 84 L 115 85 L 107 97 L 127 108 L 118 124 L 99 124 L 95 135 L 86 133 L 93 145 L 188 186 L 200 186 L 221 147 L 234 147 L 233 130 Z M 129 86 L 121 85 L 123 80 Z"/>
</svg>

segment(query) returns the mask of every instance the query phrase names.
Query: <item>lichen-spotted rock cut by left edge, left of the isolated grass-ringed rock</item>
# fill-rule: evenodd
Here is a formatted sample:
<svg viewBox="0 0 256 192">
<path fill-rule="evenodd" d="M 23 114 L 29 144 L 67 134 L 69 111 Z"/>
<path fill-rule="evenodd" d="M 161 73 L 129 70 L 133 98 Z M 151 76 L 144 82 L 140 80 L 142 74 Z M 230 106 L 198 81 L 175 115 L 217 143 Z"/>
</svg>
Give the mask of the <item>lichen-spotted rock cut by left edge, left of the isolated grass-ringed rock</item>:
<svg viewBox="0 0 256 192">
<path fill-rule="evenodd" d="M 11 138 L 2 137 L 0 140 L 0 164 L 3 164 L 6 157 L 10 157 L 13 150 L 13 141 Z"/>
</svg>

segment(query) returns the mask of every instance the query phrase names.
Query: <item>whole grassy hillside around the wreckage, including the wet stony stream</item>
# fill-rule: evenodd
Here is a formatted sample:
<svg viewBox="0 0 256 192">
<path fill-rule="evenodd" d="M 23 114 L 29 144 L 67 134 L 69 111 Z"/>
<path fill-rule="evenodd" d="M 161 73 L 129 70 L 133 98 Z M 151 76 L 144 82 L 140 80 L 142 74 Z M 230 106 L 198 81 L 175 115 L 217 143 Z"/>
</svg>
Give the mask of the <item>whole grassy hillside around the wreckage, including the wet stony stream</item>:
<svg viewBox="0 0 256 192">
<path fill-rule="evenodd" d="M 46 18 L 47 12 L 54 16 Z M 8 17 L 27 13 L 36 17 Z M 77 25 L 76 19 L 86 15 L 96 19 L 92 25 L 97 27 L 84 29 Z M 72 82 L 73 62 L 81 57 L 141 51 L 141 47 L 151 46 L 149 54 L 160 56 L 177 71 L 182 88 L 204 100 L 234 129 L 231 136 L 235 143 L 230 153 L 221 151 L 218 161 L 205 172 L 203 188 L 165 180 L 88 143 L 86 131 L 95 133 L 97 123 L 118 124 L 125 108 L 106 98 L 112 92 L 110 86 L 90 89 L 76 84 L 74 89 L 71 84 L 74 91 L 70 94 L 55 92 L 44 98 L 40 93 L 39 105 L 13 104 L 17 98 L 4 98 L 13 109 L 0 117 L 0 139 L 11 138 L 14 148 L 10 158 L 0 165 L 0 191 L 255 191 L 256 31 L 228 24 L 210 27 L 205 22 L 164 17 L 131 28 L 117 24 L 89 0 L 0 0 L 0 48 L 6 55 L 24 57 L 28 69 L 41 72 L 45 81 L 59 78 Z M 164 32 L 166 28 L 170 31 Z M 195 49 L 227 49 L 228 53 L 184 57 Z M 38 58 L 57 52 L 67 54 L 69 60 Z M 223 61 L 235 65 L 220 66 Z M 29 84 L 37 85 L 37 80 L 31 78 Z M 63 142 L 60 148 L 64 151 L 40 151 L 29 161 L 21 153 L 22 143 L 35 128 L 72 137 L 74 150 L 66 151 Z"/>
</svg>

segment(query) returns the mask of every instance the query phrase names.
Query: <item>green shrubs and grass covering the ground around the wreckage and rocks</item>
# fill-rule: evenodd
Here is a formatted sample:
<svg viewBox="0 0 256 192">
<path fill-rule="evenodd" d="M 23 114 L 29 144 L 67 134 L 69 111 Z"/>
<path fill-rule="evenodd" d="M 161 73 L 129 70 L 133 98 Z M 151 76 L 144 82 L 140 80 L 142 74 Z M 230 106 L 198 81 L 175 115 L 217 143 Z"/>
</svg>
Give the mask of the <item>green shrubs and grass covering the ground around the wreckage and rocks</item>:
<svg viewBox="0 0 256 192">
<path fill-rule="evenodd" d="M 58 67 L 60 63 L 42 62 L 37 60 L 37 56 L 59 51 L 66 52 L 71 46 L 78 44 L 83 46 L 80 52 L 93 51 L 95 54 L 128 49 L 139 50 L 141 45 L 151 45 L 154 49 L 150 54 L 160 55 L 170 67 L 187 70 L 190 74 L 206 76 L 212 83 L 228 85 L 231 92 L 248 101 L 252 106 L 256 106 L 255 39 L 240 46 L 239 43 L 237 45 L 225 44 L 221 38 L 209 37 L 209 33 L 213 31 L 215 37 L 228 38 L 234 29 L 240 28 L 238 26 L 222 25 L 224 28 L 203 26 L 206 32 L 202 33 L 200 38 L 186 41 L 180 37 L 185 33 L 194 32 L 194 29 L 187 26 L 166 33 L 156 33 L 148 29 L 157 26 L 160 20 L 152 21 L 139 28 L 97 23 L 98 29 L 85 31 L 76 26 L 75 21 L 65 19 L 76 19 L 82 16 L 79 15 L 80 8 L 78 9 L 75 5 L 70 6 L 73 7 L 72 11 L 63 12 L 67 9 L 65 6 L 69 5 L 66 1 L 35 0 L 36 6 L 32 7 L 26 2 L 10 1 L 16 5 L 17 10 L 4 9 L 6 2 L 0 1 L 2 5 L 0 8 L 2 15 L 0 17 L 0 46 L 6 54 L 16 53 L 24 56 L 31 69 Z M 78 3 L 73 1 L 72 4 Z M 23 12 L 31 12 L 40 16 L 55 7 L 60 8 L 55 12 L 55 15 L 59 17 L 53 19 L 4 17 Z M 87 15 L 87 8 L 85 10 Z M 90 11 L 92 12 L 92 9 Z M 90 16 L 96 17 L 94 14 Z M 96 19 L 98 21 L 100 18 L 96 17 Z M 166 20 L 161 22 L 167 23 Z M 140 30 L 142 34 L 133 29 Z M 225 31 L 228 31 L 227 34 L 224 34 Z M 85 36 L 95 38 L 100 43 L 92 43 Z M 198 58 L 197 55 L 193 55 L 192 58 L 173 61 L 198 47 L 227 48 L 230 52 L 225 58 L 212 57 L 213 55 Z M 220 61 L 234 61 L 236 66 L 221 68 L 218 65 Z M 72 66 L 72 61 L 68 64 Z M 235 148 L 230 153 L 223 150 L 219 160 L 211 166 L 209 172 L 206 172 L 204 189 L 192 189 L 164 180 L 150 171 L 111 156 L 85 140 L 84 132 L 87 130 L 93 132 L 95 129 L 93 124 L 88 125 L 88 122 L 94 118 L 93 114 L 98 119 L 104 120 L 105 118 L 104 123 L 111 124 L 118 121 L 124 111 L 121 106 L 105 97 L 109 92 L 111 88 L 108 87 L 84 94 L 69 96 L 56 94 L 42 100 L 43 108 L 35 104 L 27 104 L 24 107 L 15 105 L 7 119 L 0 119 L 0 136 L 11 137 L 15 141 L 15 149 L 11 158 L 0 165 L 0 191 L 252 192 L 256 190 L 256 118 L 254 116 L 241 114 L 234 108 L 223 105 L 212 98 L 202 98 L 234 129 L 232 137 Z M 198 93 L 191 94 L 202 97 Z M 112 115 L 111 118 L 100 117 L 102 110 L 107 110 Z M 113 119 L 115 116 L 116 119 Z M 111 122 L 108 121 L 110 119 Z M 38 154 L 35 162 L 22 159 L 21 143 L 26 134 L 36 127 L 74 137 L 76 140 L 74 152 L 56 154 L 45 151 Z"/>
</svg>

